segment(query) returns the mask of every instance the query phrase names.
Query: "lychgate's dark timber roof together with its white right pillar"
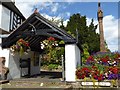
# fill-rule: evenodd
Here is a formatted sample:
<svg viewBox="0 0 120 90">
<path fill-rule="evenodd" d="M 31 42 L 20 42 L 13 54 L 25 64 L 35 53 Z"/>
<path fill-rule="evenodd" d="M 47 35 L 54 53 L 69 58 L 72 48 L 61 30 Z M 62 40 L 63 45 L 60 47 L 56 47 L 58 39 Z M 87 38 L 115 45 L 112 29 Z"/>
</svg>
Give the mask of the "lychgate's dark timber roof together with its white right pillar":
<svg viewBox="0 0 120 90">
<path fill-rule="evenodd" d="M 26 19 L 26 21 L 21 26 L 19 26 L 15 31 L 13 31 L 6 39 L 4 39 L 2 47 L 9 48 L 17 40 L 23 38 L 30 43 L 31 51 L 41 53 L 42 49 L 40 47 L 40 42 L 50 36 L 58 40 L 64 40 L 65 80 L 75 81 L 75 70 L 77 68 L 77 65 L 80 64 L 80 50 L 76 45 L 76 39 L 66 33 L 64 30 L 54 25 L 52 22 L 42 17 L 39 13 L 33 13 L 28 19 Z M 9 62 L 12 61 L 9 60 Z M 19 67 L 17 68 L 19 71 Z M 13 69 L 11 69 L 11 74 L 12 70 Z"/>
</svg>

